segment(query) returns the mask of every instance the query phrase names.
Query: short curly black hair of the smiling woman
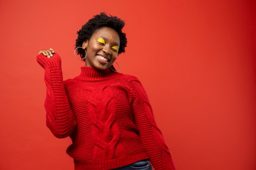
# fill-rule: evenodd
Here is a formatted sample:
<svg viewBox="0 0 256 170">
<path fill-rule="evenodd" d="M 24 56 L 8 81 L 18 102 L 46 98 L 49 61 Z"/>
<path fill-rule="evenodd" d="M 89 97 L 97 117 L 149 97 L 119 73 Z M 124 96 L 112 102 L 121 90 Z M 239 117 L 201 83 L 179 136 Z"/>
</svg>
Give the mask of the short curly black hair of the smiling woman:
<svg viewBox="0 0 256 170">
<path fill-rule="evenodd" d="M 121 20 L 120 18 L 117 18 L 116 16 L 112 16 L 112 15 L 108 16 L 104 12 L 101 12 L 98 15 L 94 15 L 93 18 L 88 20 L 88 22 L 86 22 L 82 26 L 82 28 L 79 31 L 77 31 L 78 36 L 76 39 L 75 48 L 82 46 L 85 40 L 90 40 L 90 38 L 92 37 L 92 34 L 95 33 L 95 31 L 101 29 L 102 27 L 107 26 L 117 31 L 120 39 L 120 47 L 119 47 L 118 54 L 124 53 L 125 47 L 127 44 L 126 33 L 122 32 L 124 25 L 125 25 L 124 21 Z M 76 53 L 79 54 L 81 58 L 85 56 L 85 51 L 82 48 L 78 48 Z M 85 59 L 83 61 L 85 61 Z"/>
</svg>

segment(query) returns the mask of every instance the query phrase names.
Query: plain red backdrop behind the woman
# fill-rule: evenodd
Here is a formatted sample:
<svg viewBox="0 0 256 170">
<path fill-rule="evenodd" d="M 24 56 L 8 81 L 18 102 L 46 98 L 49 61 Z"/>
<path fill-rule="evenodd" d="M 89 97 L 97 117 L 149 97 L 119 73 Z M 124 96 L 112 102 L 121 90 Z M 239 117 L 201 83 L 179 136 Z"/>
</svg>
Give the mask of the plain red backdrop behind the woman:
<svg viewBox="0 0 256 170">
<path fill-rule="evenodd" d="M 254 0 L 0 2 L 0 169 L 72 170 L 70 139 L 45 126 L 40 49 L 80 73 L 76 31 L 106 11 L 126 22 L 121 73 L 137 76 L 178 170 L 256 169 Z"/>
</svg>

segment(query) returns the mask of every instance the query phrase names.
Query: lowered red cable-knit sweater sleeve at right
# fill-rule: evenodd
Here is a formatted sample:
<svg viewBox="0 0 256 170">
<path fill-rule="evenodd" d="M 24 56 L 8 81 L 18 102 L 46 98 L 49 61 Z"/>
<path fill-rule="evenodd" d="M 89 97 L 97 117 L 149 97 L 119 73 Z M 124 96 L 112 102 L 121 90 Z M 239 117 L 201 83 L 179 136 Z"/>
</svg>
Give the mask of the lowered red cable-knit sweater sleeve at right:
<svg viewBox="0 0 256 170">
<path fill-rule="evenodd" d="M 176 170 L 162 132 L 155 122 L 146 91 L 137 78 L 132 81 L 132 88 L 135 124 L 150 162 L 155 170 Z"/>
</svg>

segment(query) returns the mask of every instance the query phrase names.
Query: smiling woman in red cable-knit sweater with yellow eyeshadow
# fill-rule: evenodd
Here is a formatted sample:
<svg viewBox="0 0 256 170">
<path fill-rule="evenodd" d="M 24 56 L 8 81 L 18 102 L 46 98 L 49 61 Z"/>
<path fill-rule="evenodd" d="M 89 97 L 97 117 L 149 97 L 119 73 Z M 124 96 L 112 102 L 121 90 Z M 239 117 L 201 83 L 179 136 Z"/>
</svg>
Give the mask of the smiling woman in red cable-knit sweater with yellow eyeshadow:
<svg viewBox="0 0 256 170">
<path fill-rule="evenodd" d="M 67 154 L 75 170 L 175 170 L 139 80 L 117 73 L 112 64 L 125 52 L 124 22 L 95 15 L 77 32 L 81 74 L 63 81 L 61 58 L 53 49 L 38 51 L 45 69 L 47 127 L 70 137 Z M 118 69 L 119 70 L 119 69 Z"/>
</svg>

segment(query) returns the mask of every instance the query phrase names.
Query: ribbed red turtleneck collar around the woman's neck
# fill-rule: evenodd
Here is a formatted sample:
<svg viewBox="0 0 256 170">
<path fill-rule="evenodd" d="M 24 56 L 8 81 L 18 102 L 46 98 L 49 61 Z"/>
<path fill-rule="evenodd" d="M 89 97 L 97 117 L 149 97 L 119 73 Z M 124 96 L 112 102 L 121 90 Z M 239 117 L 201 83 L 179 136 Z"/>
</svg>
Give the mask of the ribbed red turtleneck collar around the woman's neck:
<svg viewBox="0 0 256 170">
<path fill-rule="evenodd" d="M 99 81 L 103 79 L 109 79 L 116 74 L 118 73 L 111 71 L 110 68 L 104 71 L 97 71 L 93 67 L 82 66 L 81 74 L 75 78 L 83 81 Z"/>
</svg>

